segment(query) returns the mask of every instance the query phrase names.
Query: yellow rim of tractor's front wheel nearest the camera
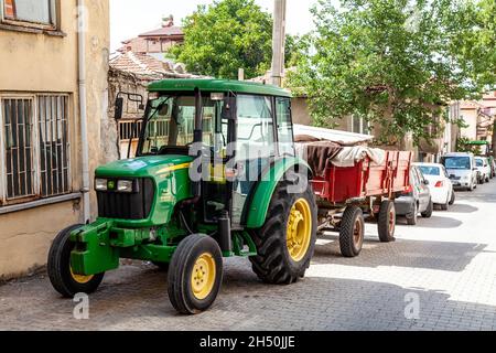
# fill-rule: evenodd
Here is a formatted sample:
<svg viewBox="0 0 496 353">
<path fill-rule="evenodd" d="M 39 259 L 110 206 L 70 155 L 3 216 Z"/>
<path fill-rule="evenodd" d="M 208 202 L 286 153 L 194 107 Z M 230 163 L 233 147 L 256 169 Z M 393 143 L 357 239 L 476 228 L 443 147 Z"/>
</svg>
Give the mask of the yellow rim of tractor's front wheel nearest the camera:
<svg viewBox="0 0 496 353">
<path fill-rule="evenodd" d="M 207 298 L 215 286 L 216 268 L 215 259 L 211 254 L 201 255 L 193 267 L 191 275 L 191 288 L 198 300 Z"/>
</svg>

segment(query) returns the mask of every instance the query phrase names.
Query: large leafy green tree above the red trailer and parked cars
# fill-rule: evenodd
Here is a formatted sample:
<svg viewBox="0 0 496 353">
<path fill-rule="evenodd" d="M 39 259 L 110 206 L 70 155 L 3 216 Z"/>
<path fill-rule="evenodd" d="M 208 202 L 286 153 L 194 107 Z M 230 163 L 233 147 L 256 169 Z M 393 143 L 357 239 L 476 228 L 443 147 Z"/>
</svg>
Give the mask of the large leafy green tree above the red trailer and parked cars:
<svg viewBox="0 0 496 353">
<path fill-rule="evenodd" d="M 475 67 L 484 55 L 459 52 L 473 47 L 476 7 L 468 0 L 341 0 L 337 9 L 321 0 L 306 40 L 311 54 L 300 56 L 289 84 L 309 96 L 317 126 L 353 115 L 380 126 L 380 142 L 398 143 L 408 132 L 417 143 L 430 140 L 440 117 L 448 118 L 445 105 L 492 81 L 479 74 L 482 64 Z M 494 54 L 494 46 L 487 50 Z"/>
</svg>

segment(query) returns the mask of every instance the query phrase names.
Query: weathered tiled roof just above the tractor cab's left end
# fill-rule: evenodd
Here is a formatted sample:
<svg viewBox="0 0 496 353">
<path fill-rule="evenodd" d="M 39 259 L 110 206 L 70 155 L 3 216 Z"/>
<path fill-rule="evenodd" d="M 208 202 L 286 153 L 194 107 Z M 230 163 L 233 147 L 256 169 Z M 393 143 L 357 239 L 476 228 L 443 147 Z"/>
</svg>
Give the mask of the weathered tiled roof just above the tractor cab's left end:
<svg viewBox="0 0 496 353">
<path fill-rule="evenodd" d="M 148 76 L 153 79 L 160 78 L 194 78 L 198 77 L 185 73 L 179 67 L 163 63 L 158 58 L 142 53 L 127 52 L 110 60 L 110 67 L 139 76 Z"/>
</svg>

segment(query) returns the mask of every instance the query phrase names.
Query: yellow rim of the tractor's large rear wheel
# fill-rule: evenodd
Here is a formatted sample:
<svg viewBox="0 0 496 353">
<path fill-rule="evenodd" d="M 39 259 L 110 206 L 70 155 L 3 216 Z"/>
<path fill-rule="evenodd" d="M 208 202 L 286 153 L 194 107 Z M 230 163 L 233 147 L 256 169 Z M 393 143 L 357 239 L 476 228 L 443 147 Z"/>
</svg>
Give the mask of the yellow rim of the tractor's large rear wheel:
<svg viewBox="0 0 496 353">
<path fill-rule="evenodd" d="M 299 263 L 305 257 L 312 238 L 312 213 L 306 200 L 298 200 L 291 208 L 287 235 L 288 252 Z"/>
</svg>

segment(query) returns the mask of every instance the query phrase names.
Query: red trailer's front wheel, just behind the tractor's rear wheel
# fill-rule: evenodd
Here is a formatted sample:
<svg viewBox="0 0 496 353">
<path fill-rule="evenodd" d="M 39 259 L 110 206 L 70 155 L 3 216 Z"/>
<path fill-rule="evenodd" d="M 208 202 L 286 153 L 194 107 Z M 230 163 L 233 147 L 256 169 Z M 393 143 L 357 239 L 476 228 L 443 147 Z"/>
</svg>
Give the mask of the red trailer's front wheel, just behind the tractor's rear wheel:
<svg viewBox="0 0 496 353">
<path fill-rule="evenodd" d="M 346 207 L 341 221 L 339 247 L 344 257 L 356 257 L 364 246 L 365 220 L 360 207 Z"/>
</svg>

